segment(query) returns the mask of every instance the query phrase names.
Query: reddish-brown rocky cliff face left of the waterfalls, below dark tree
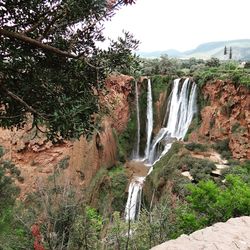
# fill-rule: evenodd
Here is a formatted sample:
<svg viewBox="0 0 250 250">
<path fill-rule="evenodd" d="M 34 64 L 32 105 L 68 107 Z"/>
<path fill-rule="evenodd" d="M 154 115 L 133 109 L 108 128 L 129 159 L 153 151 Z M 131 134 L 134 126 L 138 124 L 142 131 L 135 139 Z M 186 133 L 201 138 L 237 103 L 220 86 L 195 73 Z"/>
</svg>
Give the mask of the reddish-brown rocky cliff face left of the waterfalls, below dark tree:
<svg viewBox="0 0 250 250">
<path fill-rule="evenodd" d="M 36 189 L 56 169 L 72 184 L 88 185 L 100 167 L 116 163 L 116 139 L 129 119 L 129 95 L 132 77 L 112 75 L 106 80 L 106 90 L 100 95 L 101 130 L 90 141 L 82 137 L 75 142 L 52 145 L 44 135 L 26 125 L 23 130 L 0 130 L 0 145 L 5 148 L 5 159 L 13 161 L 21 170 L 24 181 L 17 184 L 21 197 Z"/>
</svg>

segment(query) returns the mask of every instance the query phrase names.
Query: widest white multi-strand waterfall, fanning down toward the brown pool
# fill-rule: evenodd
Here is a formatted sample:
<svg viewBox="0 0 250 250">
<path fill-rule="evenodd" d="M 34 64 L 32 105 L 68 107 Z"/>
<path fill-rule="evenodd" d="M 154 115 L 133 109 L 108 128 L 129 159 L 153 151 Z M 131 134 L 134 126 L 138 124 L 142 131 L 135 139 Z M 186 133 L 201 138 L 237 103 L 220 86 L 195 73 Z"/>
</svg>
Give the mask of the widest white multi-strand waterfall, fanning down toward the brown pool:
<svg viewBox="0 0 250 250">
<path fill-rule="evenodd" d="M 148 163 L 154 164 L 170 149 L 173 140 L 183 140 L 196 112 L 196 84 L 186 78 L 174 80 L 169 96 L 165 124 L 156 135 L 150 148 Z M 163 143 L 164 149 L 157 154 L 157 146 Z"/>
</svg>

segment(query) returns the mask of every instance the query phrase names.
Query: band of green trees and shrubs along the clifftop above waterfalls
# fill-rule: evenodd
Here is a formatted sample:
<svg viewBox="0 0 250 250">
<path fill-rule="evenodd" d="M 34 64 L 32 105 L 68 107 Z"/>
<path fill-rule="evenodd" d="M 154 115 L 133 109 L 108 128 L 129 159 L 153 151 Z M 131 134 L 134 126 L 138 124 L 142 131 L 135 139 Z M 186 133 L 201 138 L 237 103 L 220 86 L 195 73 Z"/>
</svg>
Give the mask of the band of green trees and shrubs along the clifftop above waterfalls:
<svg viewBox="0 0 250 250">
<path fill-rule="evenodd" d="M 199 88 L 208 81 L 231 80 L 236 86 L 250 87 L 250 69 L 240 68 L 238 61 L 220 61 L 212 57 L 202 59 L 171 59 L 167 55 L 159 59 L 144 59 L 144 75 L 166 75 L 170 78 L 192 76 Z M 198 95 L 199 97 L 199 95 Z"/>
</svg>

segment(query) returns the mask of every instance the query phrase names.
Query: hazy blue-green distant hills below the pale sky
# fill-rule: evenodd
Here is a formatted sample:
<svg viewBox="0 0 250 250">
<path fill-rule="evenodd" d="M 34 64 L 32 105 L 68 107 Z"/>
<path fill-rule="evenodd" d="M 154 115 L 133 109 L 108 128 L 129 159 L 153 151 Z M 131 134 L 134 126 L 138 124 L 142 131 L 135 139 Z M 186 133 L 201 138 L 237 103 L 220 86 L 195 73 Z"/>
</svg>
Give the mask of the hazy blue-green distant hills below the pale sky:
<svg viewBox="0 0 250 250">
<path fill-rule="evenodd" d="M 175 58 L 195 57 L 208 59 L 211 57 L 217 57 L 223 60 L 228 58 L 228 54 L 224 55 L 225 46 L 228 48 L 228 52 L 229 48 L 232 47 L 232 59 L 250 60 L 250 39 L 203 43 L 193 50 L 184 52 L 171 49 L 165 51 L 139 52 L 138 54 L 144 58 L 157 58 L 161 55 L 167 54 L 169 57 Z"/>
</svg>

